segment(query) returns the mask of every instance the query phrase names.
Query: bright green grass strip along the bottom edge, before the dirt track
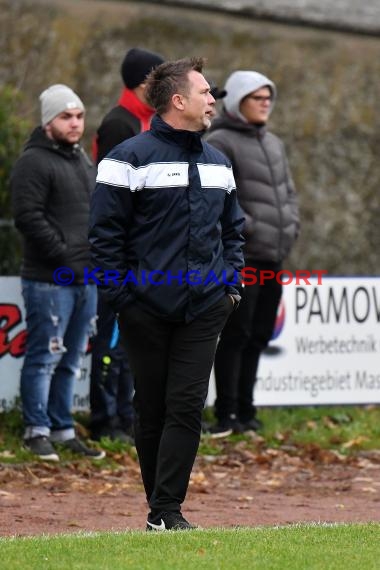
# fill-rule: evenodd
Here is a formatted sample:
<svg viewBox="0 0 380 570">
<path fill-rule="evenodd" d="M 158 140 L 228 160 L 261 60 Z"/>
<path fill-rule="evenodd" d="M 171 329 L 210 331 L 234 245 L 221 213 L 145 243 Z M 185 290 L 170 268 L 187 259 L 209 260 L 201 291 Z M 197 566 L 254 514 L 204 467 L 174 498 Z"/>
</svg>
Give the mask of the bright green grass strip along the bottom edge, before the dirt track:
<svg viewBox="0 0 380 570">
<path fill-rule="evenodd" d="M 0 539 L 2 570 L 371 570 L 380 525 L 294 525 Z"/>
</svg>

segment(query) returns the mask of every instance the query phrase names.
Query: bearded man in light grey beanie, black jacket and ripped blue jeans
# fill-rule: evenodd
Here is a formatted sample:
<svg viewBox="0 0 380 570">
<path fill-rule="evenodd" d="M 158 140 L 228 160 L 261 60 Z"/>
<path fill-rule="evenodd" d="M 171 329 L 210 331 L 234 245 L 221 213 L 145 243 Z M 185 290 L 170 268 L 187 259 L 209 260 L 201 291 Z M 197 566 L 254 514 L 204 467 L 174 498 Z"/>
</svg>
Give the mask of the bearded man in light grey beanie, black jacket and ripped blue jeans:
<svg viewBox="0 0 380 570">
<path fill-rule="evenodd" d="M 96 317 L 96 286 L 84 278 L 96 169 L 80 145 L 84 105 L 78 95 L 52 85 L 40 103 L 41 126 L 11 175 L 13 214 L 23 237 L 28 333 L 20 384 L 24 446 L 45 461 L 58 461 L 58 449 L 101 459 L 103 451 L 76 437 L 71 413 L 74 380 Z"/>
</svg>

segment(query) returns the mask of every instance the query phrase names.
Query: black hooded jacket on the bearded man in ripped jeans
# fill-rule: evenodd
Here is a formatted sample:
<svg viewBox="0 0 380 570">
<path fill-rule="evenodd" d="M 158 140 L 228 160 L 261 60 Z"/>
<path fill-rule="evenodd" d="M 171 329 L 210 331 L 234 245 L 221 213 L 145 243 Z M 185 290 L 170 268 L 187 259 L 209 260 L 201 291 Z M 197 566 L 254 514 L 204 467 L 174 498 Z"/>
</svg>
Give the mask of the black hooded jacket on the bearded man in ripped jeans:
<svg viewBox="0 0 380 570">
<path fill-rule="evenodd" d="M 24 242 L 25 279 L 54 282 L 69 267 L 83 283 L 90 266 L 88 218 L 96 168 L 79 145 L 58 145 L 37 127 L 11 175 L 13 215 Z"/>
</svg>

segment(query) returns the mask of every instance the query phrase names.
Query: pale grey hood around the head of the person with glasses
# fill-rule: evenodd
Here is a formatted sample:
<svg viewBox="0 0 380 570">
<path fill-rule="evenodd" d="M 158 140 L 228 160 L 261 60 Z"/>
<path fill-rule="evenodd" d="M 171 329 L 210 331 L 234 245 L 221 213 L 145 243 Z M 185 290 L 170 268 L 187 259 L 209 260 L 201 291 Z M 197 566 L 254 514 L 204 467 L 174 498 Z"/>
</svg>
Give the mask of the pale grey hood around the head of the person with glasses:
<svg viewBox="0 0 380 570">
<path fill-rule="evenodd" d="M 276 86 L 273 81 L 257 71 L 234 71 L 231 73 L 224 86 L 227 95 L 223 99 L 223 104 L 227 113 L 235 119 L 240 119 L 246 123 L 247 119 L 240 113 L 240 101 L 262 87 L 269 87 L 272 92 L 272 104 L 270 108 L 272 111 L 277 95 Z"/>
</svg>

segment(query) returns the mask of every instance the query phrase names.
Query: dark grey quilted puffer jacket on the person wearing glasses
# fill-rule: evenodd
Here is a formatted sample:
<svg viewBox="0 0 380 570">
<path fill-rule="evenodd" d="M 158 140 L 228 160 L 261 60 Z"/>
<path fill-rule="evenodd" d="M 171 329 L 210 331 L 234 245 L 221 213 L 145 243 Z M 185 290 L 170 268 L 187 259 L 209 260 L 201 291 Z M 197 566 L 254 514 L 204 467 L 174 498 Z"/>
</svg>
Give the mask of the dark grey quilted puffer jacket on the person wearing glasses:
<svg viewBox="0 0 380 570">
<path fill-rule="evenodd" d="M 226 113 L 215 119 L 206 139 L 232 163 L 245 215 L 245 259 L 281 262 L 299 231 L 298 201 L 282 141 L 265 126 Z"/>
</svg>

